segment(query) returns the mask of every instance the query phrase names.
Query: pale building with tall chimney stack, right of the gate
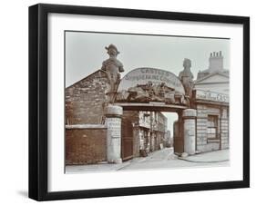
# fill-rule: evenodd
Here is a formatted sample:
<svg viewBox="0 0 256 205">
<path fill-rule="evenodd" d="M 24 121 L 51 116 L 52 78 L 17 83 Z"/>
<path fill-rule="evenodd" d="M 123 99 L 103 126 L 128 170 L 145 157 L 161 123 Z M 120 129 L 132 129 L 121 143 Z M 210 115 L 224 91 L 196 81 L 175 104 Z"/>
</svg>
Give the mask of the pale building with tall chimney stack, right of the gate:
<svg viewBox="0 0 256 205">
<path fill-rule="evenodd" d="M 209 68 L 199 72 L 194 82 L 198 151 L 229 148 L 229 88 L 229 70 L 223 68 L 223 55 L 213 52 Z"/>
</svg>

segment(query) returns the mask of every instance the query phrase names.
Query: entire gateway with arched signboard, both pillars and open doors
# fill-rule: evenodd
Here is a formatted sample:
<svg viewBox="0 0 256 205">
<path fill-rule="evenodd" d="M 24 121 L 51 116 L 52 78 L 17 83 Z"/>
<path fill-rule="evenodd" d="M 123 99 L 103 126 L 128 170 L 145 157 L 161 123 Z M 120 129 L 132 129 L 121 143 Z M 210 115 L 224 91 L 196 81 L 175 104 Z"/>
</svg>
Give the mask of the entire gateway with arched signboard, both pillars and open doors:
<svg viewBox="0 0 256 205">
<path fill-rule="evenodd" d="M 189 109 L 189 97 L 175 74 L 156 68 L 134 69 L 120 81 L 114 99 L 106 108 L 109 162 L 127 160 L 133 155 L 133 125 L 128 120 L 122 122 L 123 111 L 178 113 L 174 151 L 195 153 L 196 111 Z M 124 123 L 127 127 L 122 130 Z"/>
</svg>

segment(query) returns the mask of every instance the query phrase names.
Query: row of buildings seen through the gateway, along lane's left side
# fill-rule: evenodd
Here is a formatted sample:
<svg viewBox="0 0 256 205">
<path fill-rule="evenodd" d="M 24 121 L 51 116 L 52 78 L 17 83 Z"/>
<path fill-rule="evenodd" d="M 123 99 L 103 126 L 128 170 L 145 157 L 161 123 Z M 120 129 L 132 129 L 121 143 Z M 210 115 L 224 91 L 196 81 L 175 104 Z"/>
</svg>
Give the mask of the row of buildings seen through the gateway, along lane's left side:
<svg viewBox="0 0 256 205">
<path fill-rule="evenodd" d="M 122 152 L 123 159 L 128 160 L 132 157 L 145 156 L 148 152 L 157 151 L 164 146 L 167 133 L 168 119 L 161 112 L 148 111 L 124 111 L 122 117 L 122 138 L 126 139 L 127 150 L 130 155 Z M 128 129 L 132 124 L 132 130 Z M 128 140 L 128 138 L 133 137 Z M 128 151 L 128 142 L 132 143 Z"/>
</svg>

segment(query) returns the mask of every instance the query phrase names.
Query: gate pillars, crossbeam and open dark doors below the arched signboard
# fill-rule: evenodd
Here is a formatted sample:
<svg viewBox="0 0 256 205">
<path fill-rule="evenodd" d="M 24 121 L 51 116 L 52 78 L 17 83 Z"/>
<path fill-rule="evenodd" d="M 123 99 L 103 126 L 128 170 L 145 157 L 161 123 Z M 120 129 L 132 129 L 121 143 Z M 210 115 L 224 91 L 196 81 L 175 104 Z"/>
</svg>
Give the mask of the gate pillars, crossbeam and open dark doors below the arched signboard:
<svg viewBox="0 0 256 205">
<path fill-rule="evenodd" d="M 123 107 L 122 107 L 123 106 Z M 122 121 L 123 111 L 156 111 L 156 112 L 177 112 L 179 119 L 175 122 L 174 128 L 174 152 L 181 154 L 187 152 L 194 154 L 196 151 L 196 111 L 186 107 L 130 107 L 124 104 L 111 104 L 108 106 L 108 161 L 121 162 L 133 157 L 133 125 L 131 121 Z M 115 111 L 117 111 L 115 113 Z M 125 124 L 124 124 L 125 123 Z M 123 126 L 122 126 L 123 125 Z"/>
</svg>

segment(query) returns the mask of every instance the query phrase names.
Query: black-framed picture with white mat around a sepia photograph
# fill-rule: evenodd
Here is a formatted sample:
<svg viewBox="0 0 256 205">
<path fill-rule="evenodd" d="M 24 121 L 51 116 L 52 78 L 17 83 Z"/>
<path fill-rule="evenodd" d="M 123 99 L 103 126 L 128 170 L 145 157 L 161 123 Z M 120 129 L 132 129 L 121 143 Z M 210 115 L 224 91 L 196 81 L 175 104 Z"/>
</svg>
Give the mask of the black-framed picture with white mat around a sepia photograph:
<svg viewBox="0 0 256 205">
<path fill-rule="evenodd" d="M 250 187 L 250 18 L 29 7 L 29 197 Z"/>
</svg>

